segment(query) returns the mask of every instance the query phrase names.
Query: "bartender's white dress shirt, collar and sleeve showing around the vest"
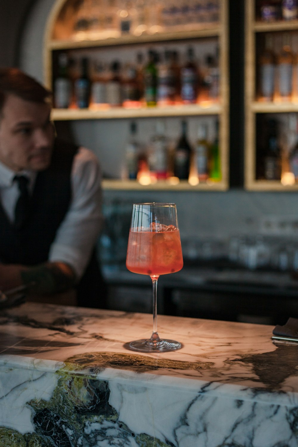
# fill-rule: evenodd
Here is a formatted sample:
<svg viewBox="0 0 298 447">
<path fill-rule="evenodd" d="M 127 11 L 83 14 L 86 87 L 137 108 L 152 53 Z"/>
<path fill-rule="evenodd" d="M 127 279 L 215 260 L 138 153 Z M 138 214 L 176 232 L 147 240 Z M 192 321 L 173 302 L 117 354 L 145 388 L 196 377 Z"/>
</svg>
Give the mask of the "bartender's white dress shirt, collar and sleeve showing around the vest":
<svg viewBox="0 0 298 447">
<path fill-rule="evenodd" d="M 37 173 L 18 173 L 29 178 L 32 194 Z M 8 219 L 13 222 L 19 195 L 14 171 L 0 162 L 0 200 Z M 50 246 L 48 261 L 69 264 L 80 279 L 96 244 L 102 223 L 101 169 L 97 156 L 89 149 L 80 148 L 71 168 L 71 203 L 55 240 Z M 1 261 L 1 260 L 0 260 Z"/>
</svg>

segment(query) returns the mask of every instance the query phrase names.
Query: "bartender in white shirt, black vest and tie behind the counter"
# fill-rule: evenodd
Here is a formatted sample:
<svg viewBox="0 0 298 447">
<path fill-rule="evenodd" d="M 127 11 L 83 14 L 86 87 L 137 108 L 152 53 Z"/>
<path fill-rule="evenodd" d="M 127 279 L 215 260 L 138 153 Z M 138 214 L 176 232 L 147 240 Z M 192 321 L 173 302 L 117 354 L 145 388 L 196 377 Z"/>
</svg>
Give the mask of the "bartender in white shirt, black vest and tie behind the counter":
<svg viewBox="0 0 298 447">
<path fill-rule="evenodd" d="M 105 307 L 100 166 L 90 150 L 56 138 L 51 99 L 32 77 L 0 69 L 0 289 Z"/>
</svg>

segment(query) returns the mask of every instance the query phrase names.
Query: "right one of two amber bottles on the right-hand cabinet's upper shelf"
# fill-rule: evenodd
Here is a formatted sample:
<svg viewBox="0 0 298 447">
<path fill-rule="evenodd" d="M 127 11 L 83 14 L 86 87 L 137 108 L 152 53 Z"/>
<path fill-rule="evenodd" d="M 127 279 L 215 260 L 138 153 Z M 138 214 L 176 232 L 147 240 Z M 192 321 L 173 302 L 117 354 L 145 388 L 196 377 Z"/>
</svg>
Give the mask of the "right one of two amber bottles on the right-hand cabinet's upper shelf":
<svg viewBox="0 0 298 447">
<path fill-rule="evenodd" d="M 290 101 L 293 84 L 293 55 L 290 47 L 290 34 L 284 33 L 282 49 L 277 56 L 278 93 L 282 100 Z"/>
</svg>

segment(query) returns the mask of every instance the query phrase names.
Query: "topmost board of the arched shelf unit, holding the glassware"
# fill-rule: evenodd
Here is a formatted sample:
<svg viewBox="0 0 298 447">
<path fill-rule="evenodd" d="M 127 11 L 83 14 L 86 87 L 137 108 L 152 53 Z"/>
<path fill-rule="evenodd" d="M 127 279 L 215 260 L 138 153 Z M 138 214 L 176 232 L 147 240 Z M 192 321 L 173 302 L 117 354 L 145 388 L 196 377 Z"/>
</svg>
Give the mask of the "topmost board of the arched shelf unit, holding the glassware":
<svg viewBox="0 0 298 447">
<path fill-rule="evenodd" d="M 122 35 L 121 37 L 106 39 L 76 40 L 75 38 L 71 38 L 69 40 L 50 40 L 47 42 L 47 48 L 48 50 L 67 50 L 94 46 L 132 45 L 138 43 L 217 37 L 220 33 L 221 28 L 218 24 L 210 24 L 198 27 L 196 30 L 143 34 L 142 36 Z"/>
</svg>

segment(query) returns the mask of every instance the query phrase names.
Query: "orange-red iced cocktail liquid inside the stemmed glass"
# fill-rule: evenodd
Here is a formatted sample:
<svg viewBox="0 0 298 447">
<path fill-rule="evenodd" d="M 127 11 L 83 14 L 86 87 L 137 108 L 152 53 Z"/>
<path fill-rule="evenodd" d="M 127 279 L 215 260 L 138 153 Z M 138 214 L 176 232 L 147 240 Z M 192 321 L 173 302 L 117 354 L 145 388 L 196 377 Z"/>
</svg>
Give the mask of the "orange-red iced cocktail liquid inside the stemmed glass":
<svg viewBox="0 0 298 447">
<path fill-rule="evenodd" d="M 150 231 L 151 230 L 151 231 Z M 173 225 L 140 231 L 130 229 L 126 267 L 134 273 L 159 276 L 182 269 L 183 258 L 179 230 Z"/>
</svg>

